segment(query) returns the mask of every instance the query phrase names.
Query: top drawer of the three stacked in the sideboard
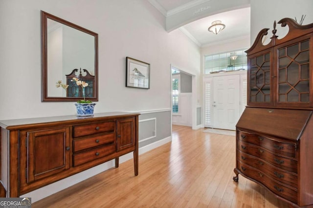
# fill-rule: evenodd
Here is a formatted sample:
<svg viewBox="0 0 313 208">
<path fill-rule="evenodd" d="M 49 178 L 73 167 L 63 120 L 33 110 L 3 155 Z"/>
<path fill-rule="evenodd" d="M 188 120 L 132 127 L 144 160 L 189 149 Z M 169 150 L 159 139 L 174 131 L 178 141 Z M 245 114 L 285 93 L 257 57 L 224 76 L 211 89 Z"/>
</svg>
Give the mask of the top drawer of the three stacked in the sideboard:
<svg viewBox="0 0 313 208">
<path fill-rule="evenodd" d="M 106 121 L 101 123 L 73 126 L 73 137 L 86 136 L 103 132 L 115 132 L 115 122 Z"/>
</svg>

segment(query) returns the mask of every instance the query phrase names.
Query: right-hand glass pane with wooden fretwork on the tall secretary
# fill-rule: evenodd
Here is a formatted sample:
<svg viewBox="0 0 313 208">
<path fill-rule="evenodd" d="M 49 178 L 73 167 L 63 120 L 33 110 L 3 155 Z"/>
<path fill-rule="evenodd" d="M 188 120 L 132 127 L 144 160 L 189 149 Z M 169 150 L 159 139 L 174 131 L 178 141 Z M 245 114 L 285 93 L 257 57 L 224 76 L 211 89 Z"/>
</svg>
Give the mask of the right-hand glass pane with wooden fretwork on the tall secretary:
<svg viewBox="0 0 313 208">
<path fill-rule="evenodd" d="M 278 103 L 310 102 L 310 41 L 278 49 Z"/>
</svg>

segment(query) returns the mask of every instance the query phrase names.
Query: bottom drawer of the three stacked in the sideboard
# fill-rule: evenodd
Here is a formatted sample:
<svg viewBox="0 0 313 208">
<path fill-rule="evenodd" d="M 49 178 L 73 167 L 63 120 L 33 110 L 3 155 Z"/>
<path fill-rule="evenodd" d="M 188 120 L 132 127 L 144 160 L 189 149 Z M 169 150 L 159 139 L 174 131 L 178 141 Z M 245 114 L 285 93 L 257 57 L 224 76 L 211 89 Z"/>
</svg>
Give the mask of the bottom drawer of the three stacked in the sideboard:
<svg viewBox="0 0 313 208">
<path fill-rule="evenodd" d="M 107 156 L 115 152 L 115 145 L 106 145 L 101 148 L 96 148 L 90 151 L 85 151 L 79 154 L 74 154 L 73 156 L 73 166 L 78 166 L 84 163 L 87 163 L 92 160 Z"/>
</svg>

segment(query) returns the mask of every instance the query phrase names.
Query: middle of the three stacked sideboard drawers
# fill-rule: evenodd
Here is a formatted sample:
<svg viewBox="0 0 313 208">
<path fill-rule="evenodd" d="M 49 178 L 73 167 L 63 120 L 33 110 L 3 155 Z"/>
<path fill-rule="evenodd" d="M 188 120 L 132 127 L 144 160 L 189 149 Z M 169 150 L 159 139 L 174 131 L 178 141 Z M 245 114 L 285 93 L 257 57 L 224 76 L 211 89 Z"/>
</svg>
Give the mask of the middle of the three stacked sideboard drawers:
<svg viewBox="0 0 313 208">
<path fill-rule="evenodd" d="M 89 148 L 114 143 L 115 133 L 102 134 L 99 136 L 88 137 L 84 139 L 76 139 L 73 141 L 74 152 L 86 150 Z"/>
</svg>

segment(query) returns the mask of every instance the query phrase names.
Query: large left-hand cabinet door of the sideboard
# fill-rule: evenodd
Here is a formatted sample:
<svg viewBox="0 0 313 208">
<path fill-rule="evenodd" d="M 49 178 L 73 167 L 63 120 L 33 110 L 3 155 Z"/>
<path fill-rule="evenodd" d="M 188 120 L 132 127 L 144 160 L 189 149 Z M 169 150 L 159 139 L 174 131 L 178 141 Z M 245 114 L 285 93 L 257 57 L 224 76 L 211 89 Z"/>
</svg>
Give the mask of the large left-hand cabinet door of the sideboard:
<svg viewBox="0 0 313 208">
<path fill-rule="evenodd" d="M 68 128 L 27 132 L 27 183 L 69 169 L 69 143 Z"/>
</svg>

